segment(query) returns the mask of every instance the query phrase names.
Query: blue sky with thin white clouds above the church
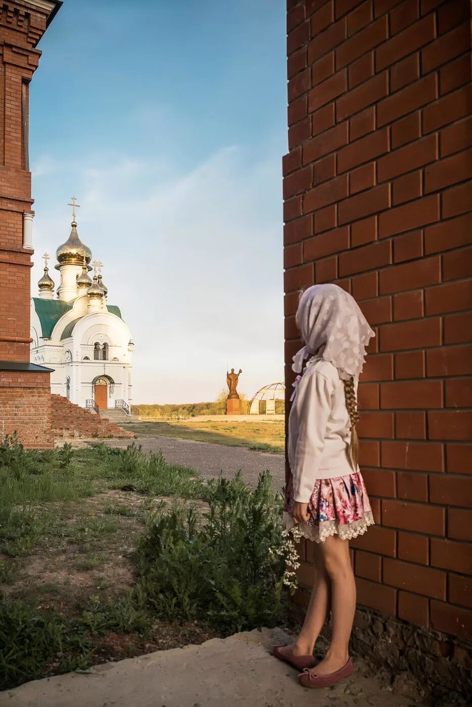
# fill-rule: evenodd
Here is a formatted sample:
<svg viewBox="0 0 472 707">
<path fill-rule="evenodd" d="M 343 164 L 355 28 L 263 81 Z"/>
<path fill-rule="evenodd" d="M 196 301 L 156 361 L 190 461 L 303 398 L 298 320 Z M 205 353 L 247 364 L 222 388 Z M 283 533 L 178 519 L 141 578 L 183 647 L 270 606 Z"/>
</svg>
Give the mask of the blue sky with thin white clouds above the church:
<svg viewBox="0 0 472 707">
<path fill-rule="evenodd" d="M 134 403 L 283 380 L 284 0 L 65 0 L 30 87 L 35 267 L 78 231 Z M 57 271 L 51 269 L 53 278 Z"/>
</svg>

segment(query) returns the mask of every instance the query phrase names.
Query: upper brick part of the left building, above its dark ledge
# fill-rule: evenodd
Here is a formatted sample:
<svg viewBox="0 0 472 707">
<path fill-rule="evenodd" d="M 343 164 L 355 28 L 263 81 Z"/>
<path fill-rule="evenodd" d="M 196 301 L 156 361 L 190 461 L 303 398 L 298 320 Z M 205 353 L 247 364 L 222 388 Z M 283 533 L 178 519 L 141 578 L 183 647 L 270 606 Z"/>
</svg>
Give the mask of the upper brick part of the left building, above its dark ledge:
<svg viewBox="0 0 472 707">
<path fill-rule="evenodd" d="M 41 52 L 36 45 L 50 11 L 22 0 L 0 8 L 0 361 L 30 360 L 30 250 L 23 249 L 23 212 L 31 212 L 31 174 L 25 170 L 23 82 Z M 28 111 L 28 103 L 26 106 Z"/>
</svg>

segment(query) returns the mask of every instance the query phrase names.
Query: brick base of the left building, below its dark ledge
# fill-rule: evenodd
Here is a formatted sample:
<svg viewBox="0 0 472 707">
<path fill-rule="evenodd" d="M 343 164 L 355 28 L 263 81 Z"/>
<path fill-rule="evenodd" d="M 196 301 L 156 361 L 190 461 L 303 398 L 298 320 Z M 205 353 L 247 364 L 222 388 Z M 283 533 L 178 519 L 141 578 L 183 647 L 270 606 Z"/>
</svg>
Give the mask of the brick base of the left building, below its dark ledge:
<svg viewBox="0 0 472 707">
<path fill-rule="evenodd" d="M 54 445 L 49 373 L 1 372 L 0 436 L 15 431 L 25 448 L 50 449 Z"/>
</svg>

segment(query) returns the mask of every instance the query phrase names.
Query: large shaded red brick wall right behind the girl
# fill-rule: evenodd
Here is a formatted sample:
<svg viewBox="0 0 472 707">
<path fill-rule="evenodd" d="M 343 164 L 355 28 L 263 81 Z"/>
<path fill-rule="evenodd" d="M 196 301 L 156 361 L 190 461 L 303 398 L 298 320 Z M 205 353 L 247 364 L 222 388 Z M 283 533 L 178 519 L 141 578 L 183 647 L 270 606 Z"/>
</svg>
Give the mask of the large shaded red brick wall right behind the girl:
<svg viewBox="0 0 472 707">
<path fill-rule="evenodd" d="M 336 282 L 376 330 L 359 387 L 377 525 L 358 601 L 472 633 L 468 0 L 288 0 L 287 389 L 298 290 Z M 301 548 L 301 585 L 313 578 Z"/>
</svg>

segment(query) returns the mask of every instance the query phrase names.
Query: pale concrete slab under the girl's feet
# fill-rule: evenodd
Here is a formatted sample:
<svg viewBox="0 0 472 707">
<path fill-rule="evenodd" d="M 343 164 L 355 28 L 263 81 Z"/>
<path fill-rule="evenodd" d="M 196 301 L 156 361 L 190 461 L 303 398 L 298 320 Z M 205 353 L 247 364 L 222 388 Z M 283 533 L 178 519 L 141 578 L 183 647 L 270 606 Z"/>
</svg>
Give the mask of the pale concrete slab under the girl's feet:
<svg viewBox="0 0 472 707">
<path fill-rule="evenodd" d="M 269 652 L 288 638 L 280 629 L 263 629 L 105 663 L 2 692 L 0 707 L 415 706 L 366 677 L 362 660 L 350 679 L 331 689 L 301 687 L 297 672 Z"/>
</svg>

